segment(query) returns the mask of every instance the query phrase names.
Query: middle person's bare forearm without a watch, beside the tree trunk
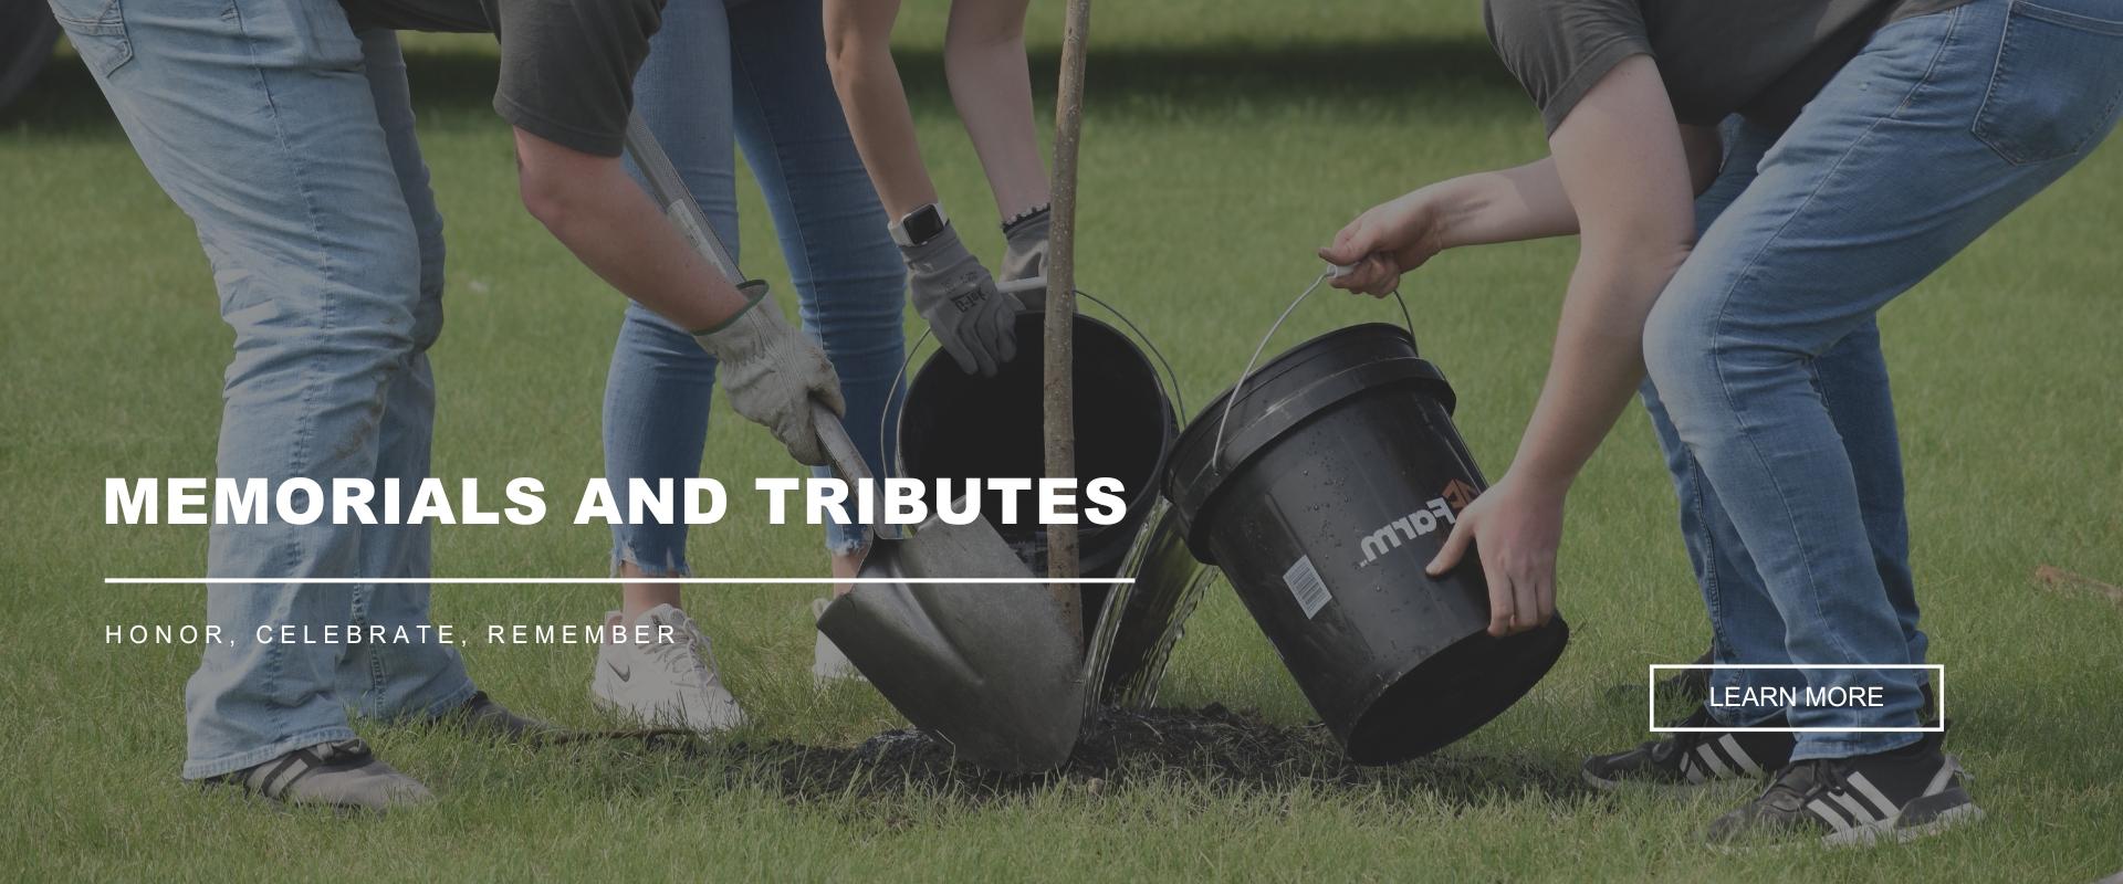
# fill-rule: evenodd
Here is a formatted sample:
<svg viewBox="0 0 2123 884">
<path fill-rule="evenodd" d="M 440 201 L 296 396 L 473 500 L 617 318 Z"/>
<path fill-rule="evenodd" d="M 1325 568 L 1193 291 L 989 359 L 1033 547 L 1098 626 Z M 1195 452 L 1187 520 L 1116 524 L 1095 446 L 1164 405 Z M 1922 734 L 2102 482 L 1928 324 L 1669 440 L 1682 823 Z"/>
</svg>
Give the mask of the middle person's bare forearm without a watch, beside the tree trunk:
<svg viewBox="0 0 2123 884">
<path fill-rule="evenodd" d="M 972 136 L 1000 218 L 1047 204 L 1025 68 L 1025 6 L 1028 0 L 953 0 L 943 49 L 951 104 Z"/>
</svg>

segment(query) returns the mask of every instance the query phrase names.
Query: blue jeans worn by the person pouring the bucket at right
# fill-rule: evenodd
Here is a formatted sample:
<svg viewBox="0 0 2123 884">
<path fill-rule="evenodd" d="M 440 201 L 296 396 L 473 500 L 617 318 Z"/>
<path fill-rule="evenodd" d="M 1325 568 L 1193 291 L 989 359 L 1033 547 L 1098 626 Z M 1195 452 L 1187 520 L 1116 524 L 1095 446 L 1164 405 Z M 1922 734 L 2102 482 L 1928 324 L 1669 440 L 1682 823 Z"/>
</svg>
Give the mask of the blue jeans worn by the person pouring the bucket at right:
<svg viewBox="0 0 2123 884">
<path fill-rule="evenodd" d="M 2091 153 L 2119 104 L 2123 8 L 1974 0 L 1881 28 L 1788 129 L 1728 127 L 1703 235 L 1643 339 L 1720 664 L 1926 661 L 1877 312 Z M 1915 727 L 1923 678 L 1711 685 L 1885 685 L 1885 708 L 1802 706 L 1790 725 Z M 1794 759 L 1917 738 L 1800 733 Z"/>
</svg>

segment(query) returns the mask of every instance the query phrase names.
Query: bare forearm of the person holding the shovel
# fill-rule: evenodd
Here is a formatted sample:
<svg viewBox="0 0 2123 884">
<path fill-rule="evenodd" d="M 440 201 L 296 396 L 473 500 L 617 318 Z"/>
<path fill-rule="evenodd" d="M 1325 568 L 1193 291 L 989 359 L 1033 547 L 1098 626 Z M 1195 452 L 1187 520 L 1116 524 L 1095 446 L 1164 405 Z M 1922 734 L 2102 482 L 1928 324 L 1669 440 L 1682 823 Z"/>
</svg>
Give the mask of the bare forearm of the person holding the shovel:
<svg viewBox="0 0 2123 884">
<path fill-rule="evenodd" d="M 745 297 L 664 220 L 620 157 L 516 129 L 516 165 L 524 208 L 611 288 L 688 331 L 743 312 Z"/>
</svg>

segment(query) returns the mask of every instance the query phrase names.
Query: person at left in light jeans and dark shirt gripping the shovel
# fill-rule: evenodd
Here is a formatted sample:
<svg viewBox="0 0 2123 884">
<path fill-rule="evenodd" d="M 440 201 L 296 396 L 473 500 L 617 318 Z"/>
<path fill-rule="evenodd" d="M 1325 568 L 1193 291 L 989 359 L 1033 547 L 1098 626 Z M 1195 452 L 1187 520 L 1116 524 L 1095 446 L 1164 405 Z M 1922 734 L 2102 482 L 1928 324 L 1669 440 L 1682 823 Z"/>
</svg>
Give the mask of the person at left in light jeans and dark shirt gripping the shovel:
<svg viewBox="0 0 2123 884">
<path fill-rule="evenodd" d="M 149 172 L 193 220 L 236 331 L 217 475 L 427 477 L 442 329 L 442 218 L 393 28 L 497 30 L 499 110 L 522 201 L 626 297 L 722 365 L 739 413 L 824 462 L 811 399 L 839 409 L 824 352 L 762 286 L 722 280 L 626 178 L 631 81 L 658 0 L 53 0 Z M 208 574 L 422 579 L 425 526 L 217 526 Z M 257 642 L 274 627 L 429 621 L 429 589 L 214 585 L 185 689 L 183 776 L 284 803 L 384 810 L 429 797 L 348 727 L 437 719 L 499 736 L 541 725 L 486 700 L 442 642 Z"/>
</svg>

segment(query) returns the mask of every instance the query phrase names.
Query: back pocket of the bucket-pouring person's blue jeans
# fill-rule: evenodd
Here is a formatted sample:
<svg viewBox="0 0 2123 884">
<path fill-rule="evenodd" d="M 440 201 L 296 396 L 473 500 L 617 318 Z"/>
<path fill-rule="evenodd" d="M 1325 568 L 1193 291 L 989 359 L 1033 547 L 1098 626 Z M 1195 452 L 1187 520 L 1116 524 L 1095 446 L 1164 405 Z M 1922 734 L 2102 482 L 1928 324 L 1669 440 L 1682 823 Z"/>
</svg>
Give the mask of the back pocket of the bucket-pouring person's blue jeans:
<svg viewBox="0 0 2123 884">
<path fill-rule="evenodd" d="M 2091 148 L 2123 106 L 2119 11 L 2110 0 L 2013 0 L 1970 131 L 2015 165 Z"/>
</svg>

